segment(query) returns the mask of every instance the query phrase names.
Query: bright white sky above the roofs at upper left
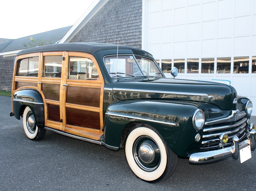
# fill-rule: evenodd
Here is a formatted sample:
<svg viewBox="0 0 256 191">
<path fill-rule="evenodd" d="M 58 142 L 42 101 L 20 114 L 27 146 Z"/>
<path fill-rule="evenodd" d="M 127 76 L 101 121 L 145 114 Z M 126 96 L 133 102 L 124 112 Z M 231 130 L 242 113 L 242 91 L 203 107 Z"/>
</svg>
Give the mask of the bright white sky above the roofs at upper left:
<svg viewBox="0 0 256 191">
<path fill-rule="evenodd" d="M 0 38 L 16 39 L 74 25 L 94 0 L 2 0 Z"/>
</svg>

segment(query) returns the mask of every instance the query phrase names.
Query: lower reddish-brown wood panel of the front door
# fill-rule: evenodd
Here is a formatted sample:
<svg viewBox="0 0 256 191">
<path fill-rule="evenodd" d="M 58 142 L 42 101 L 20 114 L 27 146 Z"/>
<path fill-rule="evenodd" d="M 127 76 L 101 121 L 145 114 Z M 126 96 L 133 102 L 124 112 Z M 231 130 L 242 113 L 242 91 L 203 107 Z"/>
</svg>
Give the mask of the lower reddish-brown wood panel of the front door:
<svg viewBox="0 0 256 191">
<path fill-rule="evenodd" d="M 100 115 L 98 112 L 66 108 L 66 124 L 86 128 L 100 128 Z"/>
</svg>

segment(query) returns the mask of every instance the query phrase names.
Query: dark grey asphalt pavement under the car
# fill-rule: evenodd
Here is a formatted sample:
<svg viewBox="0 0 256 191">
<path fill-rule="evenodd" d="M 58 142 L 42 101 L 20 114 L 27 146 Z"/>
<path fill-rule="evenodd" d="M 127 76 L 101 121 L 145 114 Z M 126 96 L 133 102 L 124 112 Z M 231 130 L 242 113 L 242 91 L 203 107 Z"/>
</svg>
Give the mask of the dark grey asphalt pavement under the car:
<svg viewBox="0 0 256 191">
<path fill-rule="evenodd" d="M 0 190 L 256 190 L 256 151 L 244 163 L 232 157 L 191 165 L 178 159 L 165 182 L 149 184 L 131 172 L 124 150 L 107 148 L 46 132 L 29 140 L 22 120 L 10 117 L 10 97 L 0 96 Z M 256 123 L 256 117 L 252 121 Z"/>
</svg>

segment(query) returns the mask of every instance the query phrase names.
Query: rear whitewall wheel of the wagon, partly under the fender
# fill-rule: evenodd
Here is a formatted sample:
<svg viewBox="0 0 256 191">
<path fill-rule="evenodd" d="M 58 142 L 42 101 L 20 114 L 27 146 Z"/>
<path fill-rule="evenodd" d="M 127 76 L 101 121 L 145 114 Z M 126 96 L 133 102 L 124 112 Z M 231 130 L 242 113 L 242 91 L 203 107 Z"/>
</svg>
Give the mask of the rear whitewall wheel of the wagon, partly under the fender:
<svg viewBox="0 0 256 191">
<path fill-rule="evenodd" d="M 36 126 L 34 114 L 29 107 L 26 107 L 23 112 L 23 128 L 27 137 L 33 141 L 38 141 L 45 137 L 46 130 Z"/>
</svg>

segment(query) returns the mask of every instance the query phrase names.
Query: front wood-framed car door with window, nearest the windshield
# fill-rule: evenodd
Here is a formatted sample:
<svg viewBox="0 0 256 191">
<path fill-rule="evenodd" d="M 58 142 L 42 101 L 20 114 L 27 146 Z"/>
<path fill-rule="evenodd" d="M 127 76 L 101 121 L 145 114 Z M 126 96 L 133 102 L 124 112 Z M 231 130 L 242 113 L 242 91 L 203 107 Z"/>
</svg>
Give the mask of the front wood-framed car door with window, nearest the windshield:
<svg viewBox="0 0 256 191">
<path fill-rule="evenodd" d="M 64 60 L 60 84 L 61 130 L 100 140 L 104 81 L 99 65 L 87 53 L 65 52 Z"/>
</svg>

